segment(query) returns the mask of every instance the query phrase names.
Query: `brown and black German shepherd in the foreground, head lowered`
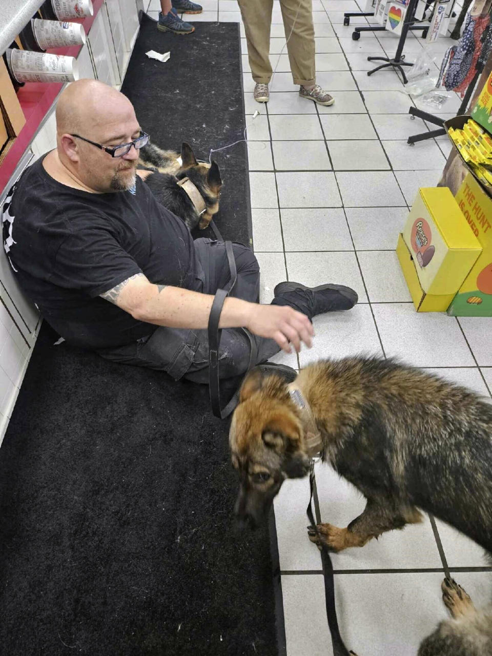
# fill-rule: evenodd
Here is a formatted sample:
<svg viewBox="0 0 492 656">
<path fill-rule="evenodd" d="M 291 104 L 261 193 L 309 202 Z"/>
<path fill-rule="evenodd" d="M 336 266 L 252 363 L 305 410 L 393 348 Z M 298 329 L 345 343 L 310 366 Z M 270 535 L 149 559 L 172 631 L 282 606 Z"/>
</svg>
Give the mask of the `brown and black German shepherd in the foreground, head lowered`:
<svg viewBox="0 0 492 656">
<path fill-rule="evenodd" d="M 289 392 L 284 379 L 257 369 L 241 386 L 230 428 L 241 480 L 238 518 L 264 520 L 285 478 L 306 476 L 320 449 L 367 505 L 346 528 L 319 524 L 318 535 L 310 529 L 312 541 L 337 552 L 363 546 L 420 522 L 422 508 L 492 553 L 492 405 L 377 358 L 320 361 L 293 386 L 297 391 Z M 419 656 L 492 655 L 492 606 L 476 610 L 449 579 L 442 590 L 453 619 L 422 642 Z"/>
</svg>

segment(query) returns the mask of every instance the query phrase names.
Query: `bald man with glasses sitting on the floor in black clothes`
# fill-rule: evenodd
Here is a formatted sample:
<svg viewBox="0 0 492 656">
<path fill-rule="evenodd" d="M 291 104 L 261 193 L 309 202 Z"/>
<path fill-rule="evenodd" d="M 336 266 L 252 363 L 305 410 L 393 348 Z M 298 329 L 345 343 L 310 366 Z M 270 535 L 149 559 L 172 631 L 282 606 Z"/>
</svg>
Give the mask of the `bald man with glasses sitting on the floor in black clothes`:
<svg viewBox="0 0 492 656">
<path fill-rule="evenodd" d="M 207 382 L 207 322 L 229 281 L 224 244 L 192 239 L 136 173 L 148 135 L 131 102 L 82 79 L 60 94 L 56 150 L 26 169 L 3 206 L 5 251 L 14 276 L 67 342 L 104 358 Z M 237 284 L 220 317 L 220 376 L 243 373 L 253 333 L 258 362 L 311 345 L 311 319 L 347 310 L 341 285 L 277 285 L 256 303 L 259 268 L 235 244 Z"/>
</svg>

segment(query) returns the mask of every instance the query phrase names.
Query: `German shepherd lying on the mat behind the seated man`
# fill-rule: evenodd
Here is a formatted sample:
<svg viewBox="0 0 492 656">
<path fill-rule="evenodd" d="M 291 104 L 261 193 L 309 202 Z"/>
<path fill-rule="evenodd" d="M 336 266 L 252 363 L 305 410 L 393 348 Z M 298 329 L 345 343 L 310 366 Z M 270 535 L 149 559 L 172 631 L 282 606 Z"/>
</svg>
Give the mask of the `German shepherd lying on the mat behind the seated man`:
<svg viewBox="0 0 492 656">
<path fill-rule="evenodd" d="M 198 162 L 186 142 L 181 146 L 181 156 L 173 150 L 161 150 L 150 142 L 140 148 L 138 165 L 157 171 L 146 176 L 145 182 L 159 203 L 184 220 L 190 230 L 197 226 L 203 230 L 218 212 L 218 200 L 222 179 L 218 164 L 213 161 Z M 181 157 L 181 162 L 178 157 Z M 205 201 L 205 212 L 200 216 L 185 190 L 178 186 L 183 178 L 190 178 Z"/>
</svg>

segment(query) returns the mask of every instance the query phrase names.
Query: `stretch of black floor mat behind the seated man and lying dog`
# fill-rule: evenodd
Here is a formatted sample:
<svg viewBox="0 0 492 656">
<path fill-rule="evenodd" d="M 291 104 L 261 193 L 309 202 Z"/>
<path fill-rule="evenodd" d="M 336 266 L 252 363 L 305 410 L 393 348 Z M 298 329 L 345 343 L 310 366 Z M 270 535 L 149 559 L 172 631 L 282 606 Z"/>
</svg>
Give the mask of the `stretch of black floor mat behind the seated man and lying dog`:
<svg viewBox="0 0 492 656">
<path fill-rule="evenodd" d="M 180 152 L 186 141 L 195 156 L 244 139 L 241 41 L 237 23 L 198 22 L 196 32 L 178 36 L 159 32 L 144 16 L 121 91 L 151 140 Z M 171 52 L 163 63 L 146 52 Z M 249 245 L 251 213 L 247 148 L 239 142 L 213 153 L 222 175 L 220 211 L 215 222 L 224 239 Z M 210 229 L 195 237 L 213 237 Z"/>
</svg>

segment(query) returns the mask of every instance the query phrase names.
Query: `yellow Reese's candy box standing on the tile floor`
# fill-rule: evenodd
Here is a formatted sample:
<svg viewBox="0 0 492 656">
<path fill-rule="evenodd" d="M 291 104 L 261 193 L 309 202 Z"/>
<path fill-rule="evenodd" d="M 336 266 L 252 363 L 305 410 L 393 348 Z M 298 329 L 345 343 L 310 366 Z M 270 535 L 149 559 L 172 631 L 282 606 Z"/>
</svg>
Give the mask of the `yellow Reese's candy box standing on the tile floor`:
<svg viewBox="0 0 492 656">
<path fill-rule="evenodd" d="M 419 189 L 396 249 L 417 312 L 445 312 L 481 252 L 449 189 Z"/>
</svg>

